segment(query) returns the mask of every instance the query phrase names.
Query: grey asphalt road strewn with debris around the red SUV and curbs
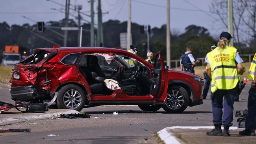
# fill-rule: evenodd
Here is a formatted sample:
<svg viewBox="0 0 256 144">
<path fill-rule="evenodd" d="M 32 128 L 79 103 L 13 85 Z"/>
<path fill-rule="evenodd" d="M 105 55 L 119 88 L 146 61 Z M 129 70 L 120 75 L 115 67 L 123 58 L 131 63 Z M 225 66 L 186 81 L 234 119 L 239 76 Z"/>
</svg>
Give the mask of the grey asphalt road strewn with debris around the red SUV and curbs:
<svg viewBox="0 0 256 144">
<path fill-rule="evenodd" d="M 249 84 L 240 95 L 240 101 L 234 104 L 235 111 L 247 108 Z M 0 101 L 10 100 L 9 90 L 0 89 Z M 99 106 L 83 109 L 91 115 L 85 119 L 35 120 L 32 123 L 20 123 L 6 128 L 31 128 L 32 133 L 0 133 L 0 142 L 27 144 L 139 144 L 157 143 L 152 137 L 170 126 L 213 126 L 211 100 L 208 95 L 204 104 L 188 107 L 181 114 L 165 113 L 160 109 L 156 113 L 145 113 L 137 106 Z M 132 111 L 131 111 L 132 110 Z M 118 114 L 113 115 L 116 111 Z M 233 124 L 236 125 L 234 117 Z M 47 136 L 47 135 L 56 136 Z"/>
</svg>

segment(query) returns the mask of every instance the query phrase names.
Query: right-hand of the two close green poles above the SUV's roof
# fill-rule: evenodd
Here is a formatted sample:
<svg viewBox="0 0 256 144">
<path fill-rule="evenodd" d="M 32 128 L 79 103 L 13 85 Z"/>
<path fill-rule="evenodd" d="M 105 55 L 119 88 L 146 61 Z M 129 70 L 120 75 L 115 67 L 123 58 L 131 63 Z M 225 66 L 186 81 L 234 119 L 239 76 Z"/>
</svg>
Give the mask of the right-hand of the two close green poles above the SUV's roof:
<svg viewBox="0 0 256 144">
<path fill-rule="evenodd" d="M 98 31 L 97 31 L 97 45 L 103 46 L 102 43 L 102 12 L 101 12 L 101 0 L 98 0 Z"/>
</svg>

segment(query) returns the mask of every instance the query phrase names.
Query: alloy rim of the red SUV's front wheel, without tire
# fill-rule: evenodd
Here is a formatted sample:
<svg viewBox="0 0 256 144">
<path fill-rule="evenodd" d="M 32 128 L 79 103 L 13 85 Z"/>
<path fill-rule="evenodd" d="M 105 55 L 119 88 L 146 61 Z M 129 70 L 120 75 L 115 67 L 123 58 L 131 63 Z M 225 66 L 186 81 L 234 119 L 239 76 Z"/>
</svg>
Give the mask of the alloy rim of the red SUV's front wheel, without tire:
<svg viewBox="0 0 256 144">
<path fill-rule="evenodd" d="M 178 90 L 171 90 L 168 92 L 166 100 L 167 107 L 173 110 L 180 109 L 184 104 L 184 96 Z"/>
</svg>

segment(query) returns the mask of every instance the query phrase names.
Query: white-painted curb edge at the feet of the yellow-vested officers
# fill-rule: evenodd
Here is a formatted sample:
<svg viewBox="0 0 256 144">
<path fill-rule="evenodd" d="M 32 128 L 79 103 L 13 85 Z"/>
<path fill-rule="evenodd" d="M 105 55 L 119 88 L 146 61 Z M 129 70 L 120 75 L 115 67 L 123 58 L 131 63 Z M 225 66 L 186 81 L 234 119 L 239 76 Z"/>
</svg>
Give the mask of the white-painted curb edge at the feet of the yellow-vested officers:
<svg viewBox="0 0 256 144">
<path fill-rule="evenodd" d="M 158 131 L 158 136 L 165 142 L 165 144 L 182 144 L 170 131 L 170 129 L 213 129 L 213 126 L 173 126 L 165 127 L 161 131 Z M 221 127 L 223 129 L 223 127 Z M 229 127 L 230 130 L 243 130 L 237 127 Z"/>
</svg>

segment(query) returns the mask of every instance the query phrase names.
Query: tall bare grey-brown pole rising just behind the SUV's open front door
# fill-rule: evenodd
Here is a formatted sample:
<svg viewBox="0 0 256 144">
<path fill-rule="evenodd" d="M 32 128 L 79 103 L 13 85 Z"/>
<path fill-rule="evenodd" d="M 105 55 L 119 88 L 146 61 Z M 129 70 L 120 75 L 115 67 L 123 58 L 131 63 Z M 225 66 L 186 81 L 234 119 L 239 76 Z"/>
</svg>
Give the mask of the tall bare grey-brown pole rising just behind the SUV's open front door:
<svg viewBox="0 0 256 144">
<path fill-rule="evenodd" d="M 166 60 L 171 68 L 171 37 L 170 37 L 170 0 L 167 0 L 167 24 L 166 24 Z"/>
</svg>

